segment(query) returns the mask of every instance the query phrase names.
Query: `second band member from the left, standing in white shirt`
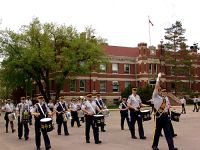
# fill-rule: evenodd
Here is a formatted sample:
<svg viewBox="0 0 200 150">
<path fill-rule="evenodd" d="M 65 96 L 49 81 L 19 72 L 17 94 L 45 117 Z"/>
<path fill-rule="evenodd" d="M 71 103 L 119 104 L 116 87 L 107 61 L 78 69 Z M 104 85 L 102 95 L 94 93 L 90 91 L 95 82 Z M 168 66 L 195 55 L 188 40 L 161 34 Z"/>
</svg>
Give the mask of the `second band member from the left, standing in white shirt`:
<svg viewBox="0 0 200 150">
<path fill-rule="evenodd" d="M 25 140 L 29 139 L 29 104 L 26 103 L 25 97 L 21 97 L 21 103 L 17 104 L 16 107 L 17 116 L 18 116 L 18 138 L 22 139 L 23 127 L 24 127 L 24 138 Z"/>
</svg>

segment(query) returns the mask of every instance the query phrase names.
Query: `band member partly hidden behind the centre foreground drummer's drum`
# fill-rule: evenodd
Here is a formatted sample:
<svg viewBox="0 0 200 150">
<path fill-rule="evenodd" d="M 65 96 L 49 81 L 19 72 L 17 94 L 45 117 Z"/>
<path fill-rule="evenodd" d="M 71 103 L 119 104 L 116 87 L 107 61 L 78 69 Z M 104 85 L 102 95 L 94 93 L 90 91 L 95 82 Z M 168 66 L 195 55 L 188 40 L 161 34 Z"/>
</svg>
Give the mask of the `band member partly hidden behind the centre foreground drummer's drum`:
<svg viewBox="0 0 200 150">
<path fill-rule="evenodd" d="M 105 103 L 103 102 L 102 98 L 101 98 L 101 94 L 97 93 L 96 94 L 96 98 L 95 98 L 95 102 L 97 104 L 97 106 L 99 107 L 100 110 L 104 110 L 107 109 Z M 99 113 L 99 112 L 97 112 Z M 105 126 L 105 118 L 103 117 L 104 123 L 101 125 L 101 132 L 106 132 L 106 130 L 104 129 Z"/>
</svg>

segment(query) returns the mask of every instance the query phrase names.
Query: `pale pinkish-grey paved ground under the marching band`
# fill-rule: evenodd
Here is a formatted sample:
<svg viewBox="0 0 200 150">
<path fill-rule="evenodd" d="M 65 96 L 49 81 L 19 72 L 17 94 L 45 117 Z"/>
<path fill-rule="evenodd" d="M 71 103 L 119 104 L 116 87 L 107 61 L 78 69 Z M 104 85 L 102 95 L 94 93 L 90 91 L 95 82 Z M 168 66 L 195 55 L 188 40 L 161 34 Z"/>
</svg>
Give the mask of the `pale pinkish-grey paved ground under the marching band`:
<svg viewBox="0 0 200 150">
<path fill-rule="evenodd" d="M 180 111 L 180 107 L 176 108 Z M 174 139 L 175 145 L 179 150 L 199 150 L 200 139 L 200 112 L 192 112 L 192 106 L 187 107 L 187 114 L 181 115 L 179 123 L 173 122 L 175 132 L 178 136 Z M 125 130 L 120 130 L 119 111 L 111 111 L 111 116 L 106 119 L 107 132 L 100 132 L 102 144 L 94 144 L 93 134 L 91 132 L 91 143 L 85 143 L 84 124 L 77 128 L 69 127 L 70 136 L 58 136 L 56 130 L 49 133 L 51 139 L 52 150 L 151 150 L 152 135 L 153 135 L 153 120 L 144 122 L 146 140 L 133 140 L 130 138 L 130 132 L 125 127 Z M 69 126 L 69 123 L 68 123 Z M 15 128 L 17 123 L 15 122 Z M 137 129 L 137 128 L 136 128 Z M 137 136 L 138 136 L 138 132 Z M 42 141 L 42 150 L 44 144 Z M 160 150 L 167 150 L 165 137 L 160 138 Z M 0 150 L 34 150 L 34 128 L 30 127 L 30 140 L 18 140 L 17 132 L 12 134 L 5 133 L 3 115 L 0 117 Z"/>
</svg>

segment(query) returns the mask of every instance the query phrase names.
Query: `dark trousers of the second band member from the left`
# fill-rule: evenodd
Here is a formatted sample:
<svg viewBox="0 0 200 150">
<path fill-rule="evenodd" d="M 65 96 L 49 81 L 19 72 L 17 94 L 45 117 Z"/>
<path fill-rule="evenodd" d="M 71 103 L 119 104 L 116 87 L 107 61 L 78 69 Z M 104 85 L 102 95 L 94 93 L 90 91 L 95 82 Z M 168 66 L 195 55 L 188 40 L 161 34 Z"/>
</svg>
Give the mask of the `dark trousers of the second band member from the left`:
<svg viewBox="0 0 200 150">
<path fill-rule="evenodd" d="M 18 117 L 18 137 L 21 138 L 23 135 L 23 127 L 24 127 L 24 138 L 29 137 L 29 128 L 28 128 L 28 121 L 20 122 L 20 118 Z"/>
</svg>

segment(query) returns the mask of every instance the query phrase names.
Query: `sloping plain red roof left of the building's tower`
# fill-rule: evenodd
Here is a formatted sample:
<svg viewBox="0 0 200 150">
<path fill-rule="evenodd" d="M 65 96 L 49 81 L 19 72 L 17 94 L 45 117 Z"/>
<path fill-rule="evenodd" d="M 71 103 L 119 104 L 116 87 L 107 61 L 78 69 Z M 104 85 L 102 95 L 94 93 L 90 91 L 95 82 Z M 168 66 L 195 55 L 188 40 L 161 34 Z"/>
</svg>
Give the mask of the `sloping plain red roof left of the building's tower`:
<svg viewBox="0 0 200 150">
<path fill-rule="evenodd" d="M 128 57 L 139 56 L 138 47 L 122 47 L 122 46 L 105 45 L 105 52 L 107 55 L 113 55 L 113 56 L 128 56 Z"/>
</svg>

